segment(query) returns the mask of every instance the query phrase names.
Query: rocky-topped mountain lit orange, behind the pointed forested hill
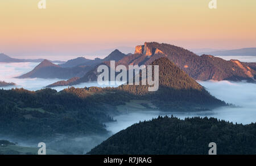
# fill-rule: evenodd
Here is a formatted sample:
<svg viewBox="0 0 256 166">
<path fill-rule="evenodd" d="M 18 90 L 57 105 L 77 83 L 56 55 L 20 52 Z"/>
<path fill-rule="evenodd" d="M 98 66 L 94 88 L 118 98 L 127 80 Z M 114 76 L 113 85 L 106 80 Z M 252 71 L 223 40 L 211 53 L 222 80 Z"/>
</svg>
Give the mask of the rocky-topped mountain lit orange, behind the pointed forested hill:
<svg viewBox="0 0 256 166">
<path fill-rule="evenodd" d="M 159 44 L 158 42 L 145 42 L 144 45 L 136 46 L 134 54 L 124 56 L 117 62 L 117 65 L 148 65 L 161 57 L 167 57 L 196 80 L 247 80 L 248 82 L 255 82 L 256 63 L 244 63 L 235 59 L 226 61 L 205 54 L 197 56 L 195 53 L 178 46 Z M 108 65 L 109 62 L 103 64 Z M 99 74 L 97 67 L 98 65 L 75 82 L 69 82 L 68 85 L 96 81 Z"/>
</svg>

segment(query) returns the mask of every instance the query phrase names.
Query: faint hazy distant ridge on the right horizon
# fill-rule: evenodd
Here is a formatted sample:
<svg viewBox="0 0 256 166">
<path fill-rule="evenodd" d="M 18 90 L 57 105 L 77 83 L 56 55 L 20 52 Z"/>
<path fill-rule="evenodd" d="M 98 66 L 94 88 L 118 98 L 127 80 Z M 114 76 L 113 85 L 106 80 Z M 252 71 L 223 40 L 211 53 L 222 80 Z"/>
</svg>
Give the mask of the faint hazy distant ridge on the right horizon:
<svg viewBox="0 0 256 166">
<path fill-rule="evenodd" d="M 234 50 L 216 50 L 208 52 L 199 52 L 199 55 L 209 54 L 212 56 L 256 56 L 256 48 L 242 48 Z"/>
</svg>

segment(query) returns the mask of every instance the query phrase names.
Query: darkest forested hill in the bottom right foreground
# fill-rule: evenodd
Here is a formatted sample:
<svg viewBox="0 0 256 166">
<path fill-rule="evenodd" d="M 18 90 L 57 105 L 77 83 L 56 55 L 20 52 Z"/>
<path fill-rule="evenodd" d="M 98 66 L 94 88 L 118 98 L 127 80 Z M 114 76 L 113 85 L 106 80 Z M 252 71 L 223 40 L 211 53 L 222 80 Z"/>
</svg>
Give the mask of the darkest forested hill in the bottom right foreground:
<svg viewBox="0 0 256 166">
<path fill-rule="evenodd" d="M 256 124 L 240 125 L 216 118 L 158 117 L 134 124 L 113 135 L 88 154 L 202 154 L 209 143 L 217 154 L 256 154 Z"/>
</svg>

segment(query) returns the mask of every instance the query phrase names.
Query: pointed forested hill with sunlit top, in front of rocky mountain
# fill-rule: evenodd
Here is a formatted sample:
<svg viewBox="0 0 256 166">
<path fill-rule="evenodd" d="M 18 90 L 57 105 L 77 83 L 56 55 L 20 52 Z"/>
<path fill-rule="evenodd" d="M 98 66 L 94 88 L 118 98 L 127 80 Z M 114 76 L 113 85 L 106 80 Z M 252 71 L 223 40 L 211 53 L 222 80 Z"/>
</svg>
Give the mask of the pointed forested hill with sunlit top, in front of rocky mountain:
<svg viewBox="0 0 256 166">
<path fill-rule="evenodd" d="M 148 86 L 122 85 L 119 91 L 126 91 L 143 99 L 152 100 L 160 109 L 170 110 L 182 108 L 214 108 L 225 105 L 224 102 L 209 94 L 199 83 L 187 73 L 179 69 L 168 58 L 160 58 L 150 65 L 159 66 L 159 89 L 148 92 Z M 152 76 L 154 78 L 154 74 Z"/>
</svg>

